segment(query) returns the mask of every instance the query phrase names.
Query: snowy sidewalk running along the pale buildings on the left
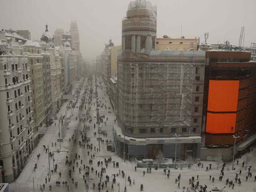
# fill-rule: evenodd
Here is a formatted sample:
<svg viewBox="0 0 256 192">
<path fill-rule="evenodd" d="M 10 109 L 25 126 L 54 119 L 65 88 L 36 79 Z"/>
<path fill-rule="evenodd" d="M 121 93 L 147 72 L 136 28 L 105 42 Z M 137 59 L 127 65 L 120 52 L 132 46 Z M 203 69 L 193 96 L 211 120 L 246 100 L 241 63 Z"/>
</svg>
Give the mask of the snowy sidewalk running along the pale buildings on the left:
<svg viewBox="0 0 256 192">
<path fill-rule="evenodd" d="M 72 91 L 72 94 L 74 93 L 75 89 Z M 61 115 L 66 114 L 66 106 L 69 104 L 69 101 L 66 101 L 62 104 L 61 109 L 59 110 L 57 116 L 58 120 L 54 120 L 54 122 L 47 128 L 45 135 L 43 138 L 41 138 L 40 143 L 36 146 L 36 148 L 33 150 L 32 154 L 28 157 L 27 164 L 25 165 L 24 169 L 20 173 L 19 177 L 15 180 L 15 182 L 11 183 L 11 189 L 14 188 L 14 186 L 24 185 L 24 183 L 27 184 L 28 188 L 33 188 L 33 178 L 36 186 L 39 186 L 40 183 L 43 183 L 42 181 L 45 181 L 45 178 L 47 177 L 48 173 L 48 152 L 45 151 L 43 148 L 43 145 L 49 146 L 49 151 L 57 151 L 59 149 L 59 142 L 57 139 L 59 138 L 59 118 Z M 78 109 L 73 109 L 73 117 L 77 116 Z M 67 111 L 67 117 L 70 117 L 71 110 Z M 56 123 L 56 126 L 55 126 Z M 69 130 L 66 131 L 65 137 L 63 138 L 63 142 L 61 143 L 61 150 L 67 150 L 69 146 L 69 137 L 73 134 L 75 128 L 77 127 L 77 121 L 75 118 L 71 118 L 70 123 L 68 125 Z M 60 125 L 61 126 L 61 125 Z M 62 130 L 61 130 L 62 131 Z M 61 134 L 62 135 L 62 134 Z M 52 143 L 53 142 L 53 146 Z M 54 143 L 56 143 L 56 147 L 54 146 Z M 37 158 L 37 155 L 40 154 L 40 158 Z M 63 156 L 66 156 L 66 154 L 54 152 L 54 164 L 59 164 L 61 162 L 61 159 Z M 37 164 L 37 169 L 34 171 L 34 166 Z M 50 158 L 50 169 L 53 169 L 53 159 Z"/>
</svg>

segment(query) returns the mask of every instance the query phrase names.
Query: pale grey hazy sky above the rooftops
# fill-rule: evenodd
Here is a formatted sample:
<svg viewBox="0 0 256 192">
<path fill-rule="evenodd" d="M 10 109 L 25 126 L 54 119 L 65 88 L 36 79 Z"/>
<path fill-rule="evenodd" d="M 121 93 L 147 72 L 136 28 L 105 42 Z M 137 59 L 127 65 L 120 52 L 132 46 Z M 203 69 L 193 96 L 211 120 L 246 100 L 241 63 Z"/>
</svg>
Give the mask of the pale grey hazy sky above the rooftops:
<svg viewBox="0 0 256 192">
<path fill-rule="evenodd" d="M 39 40 L 45 23 L 69 31 L 77 20 L 80 48 L 85 59 L 95 59 L 109 38 L 121 44 L 121 20 L 130 0 L 0 0 L 0 28 L 30 30 Z M 157 36 L 200 37 L 209 32 L 209 43 L 229 40 L 238 44 L 245 26 L 245 45 L 256 42 L 256 0 L 151 0 L 157 6 Z"/>
</svg>

